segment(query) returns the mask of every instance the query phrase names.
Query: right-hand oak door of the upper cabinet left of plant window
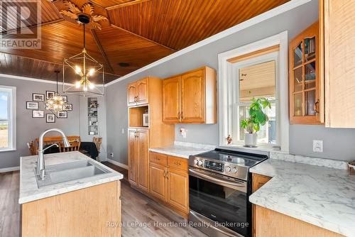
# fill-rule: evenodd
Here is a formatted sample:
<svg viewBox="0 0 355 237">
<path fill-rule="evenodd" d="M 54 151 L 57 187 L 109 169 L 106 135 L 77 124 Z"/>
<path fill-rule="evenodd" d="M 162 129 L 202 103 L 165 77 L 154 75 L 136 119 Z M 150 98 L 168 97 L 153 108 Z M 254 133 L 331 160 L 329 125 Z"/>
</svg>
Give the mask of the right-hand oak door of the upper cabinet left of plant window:
<svg viewBox="0 0 355 237">
<path fill-rule="evenodd" d="M 204 69 L 181 76 L 181 121 L 204 123 Z"/>
</svg>

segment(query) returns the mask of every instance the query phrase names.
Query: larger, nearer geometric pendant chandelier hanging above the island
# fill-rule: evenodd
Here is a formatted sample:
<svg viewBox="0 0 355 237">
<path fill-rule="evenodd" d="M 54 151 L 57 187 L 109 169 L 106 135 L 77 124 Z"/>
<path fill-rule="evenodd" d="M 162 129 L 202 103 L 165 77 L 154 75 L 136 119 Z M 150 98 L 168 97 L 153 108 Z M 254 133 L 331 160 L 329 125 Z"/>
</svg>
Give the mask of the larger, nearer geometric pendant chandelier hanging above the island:
<svg viewBox="0 0 355 237">
<path fill-rule="evenodd" d="M 87 54 L 85 48 L 85 24 L 90 22 L 89 16 L 80 13 L 77 21 L 82 23 L 84 28 L 84 47 L 82 53 L 65 58 L 63 62 L 63 92 L 77 94 L 80 96 L 103 96 L 104 95 L 104 66 Z M 71 72 L 65 71 L 69 66 Z M 66 86 L 65 77 L 75 80 L 74 85 Z M 101 84 L 99 89 L 97 83 Z"/>
</svg>

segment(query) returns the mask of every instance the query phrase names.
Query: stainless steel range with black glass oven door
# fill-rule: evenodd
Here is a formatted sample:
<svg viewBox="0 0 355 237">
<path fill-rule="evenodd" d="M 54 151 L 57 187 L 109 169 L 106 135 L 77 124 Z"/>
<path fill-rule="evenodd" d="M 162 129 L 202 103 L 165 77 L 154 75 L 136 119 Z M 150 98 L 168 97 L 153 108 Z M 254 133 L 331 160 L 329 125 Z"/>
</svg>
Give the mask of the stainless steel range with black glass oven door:
<svg viewBox="0 0 355 237">
<path fill-rule="evenodd" d="M 189 159 L 190 221 L 209 236 L 251 236 L 249 168 L 266 155 L 215 149 Z"/>
</svg>

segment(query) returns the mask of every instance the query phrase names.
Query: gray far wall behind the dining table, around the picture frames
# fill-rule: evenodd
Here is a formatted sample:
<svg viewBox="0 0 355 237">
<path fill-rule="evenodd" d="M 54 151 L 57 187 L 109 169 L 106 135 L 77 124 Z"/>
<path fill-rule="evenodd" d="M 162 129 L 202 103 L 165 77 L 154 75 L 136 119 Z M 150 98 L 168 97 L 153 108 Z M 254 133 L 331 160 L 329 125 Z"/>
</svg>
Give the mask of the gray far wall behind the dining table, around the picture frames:
<svg viewBox="0 0 355 237">
<path fill-rule="evenodd" d="M 46 123 L 45 118 L 32 118 L 32 110 L 26 109 L 26 101 L 32 101 L 32 93 L 54 91 L 55 84 L 0 77 L 0 85 L 16 87 L 16 151 L 0 152 L 0 169 L 20 165 L 20 157 L 30 155 L 27 143 L 38 138 L 45 129 L 60 128 L 67 136 L 80 134 L 79 97 L 68 96 L 73 111 L 68 111 L 67 119 L 57 118 L 55 123 Z M 40 102 L 40 109 L 43 108 L 43 102 Z"/>
</svg>

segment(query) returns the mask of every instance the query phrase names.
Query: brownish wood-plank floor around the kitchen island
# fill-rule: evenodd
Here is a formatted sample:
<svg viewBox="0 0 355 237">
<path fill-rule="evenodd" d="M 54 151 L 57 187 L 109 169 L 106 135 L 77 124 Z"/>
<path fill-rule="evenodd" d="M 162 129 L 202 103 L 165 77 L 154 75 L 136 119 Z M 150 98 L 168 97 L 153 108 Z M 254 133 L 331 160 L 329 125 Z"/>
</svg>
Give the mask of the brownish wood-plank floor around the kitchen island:
<svg viewBox="0 0 355 237">
<path fill-rule="evenodd" d="M 127 181 L 127 170 L 109 162 L 103 164 L 124 174 L 121 180 L 122 236 L 206 236 L 178 214 L 132 189 Z M 0 174 L 0 236 L 19 236 L 19 176 L 19 172 Z"/>
</svg>

